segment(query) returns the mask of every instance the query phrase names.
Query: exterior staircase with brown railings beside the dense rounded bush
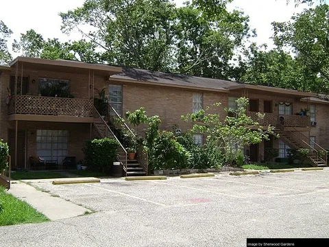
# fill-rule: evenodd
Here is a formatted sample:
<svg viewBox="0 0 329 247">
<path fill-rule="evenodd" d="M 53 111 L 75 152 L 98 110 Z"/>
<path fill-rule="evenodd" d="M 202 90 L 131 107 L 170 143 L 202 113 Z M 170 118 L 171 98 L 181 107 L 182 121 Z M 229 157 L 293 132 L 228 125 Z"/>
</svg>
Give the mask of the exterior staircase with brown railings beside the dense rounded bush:
<svg viewBox="0 0 329 247">
<path fill-rule="evenodd" d="M 114 110 L 110 104 L 108 105 L 111 110 Z M 116 117 L 121 118 L 121 116 L 114 110 L 116 113 Z M 93 111 L 94 116 L 94 123 L 93 126 L 99 133 L 99 136 L 101 138 L 108 137 L 110 139 L 116 139 L 119 143 L 118 148 L 118 161 L 123 166 L 123 172 L 125 176 L 147 176 L 147 153 L 145 152 L 143 147 L 138 148 L 137 153 L 137 159 L 136 160 L 129 160 L 127 159 L 127 151 L 119 141 L 119 139 L 115 136 L 115 134 L 112 132 L 106 121 L 101 117 L 101 115 L 98 113 L 96 108 L 94 107 Z M 124 123 L 124 121 L 123 121 Z M 124 124 L 125 128 L 129 130 L 132 133 L 132 130 Z M 133 133 L 132 133 L 133 134 Z M 133 134 L 134 135 L 134 134 Z"/>
</svg>

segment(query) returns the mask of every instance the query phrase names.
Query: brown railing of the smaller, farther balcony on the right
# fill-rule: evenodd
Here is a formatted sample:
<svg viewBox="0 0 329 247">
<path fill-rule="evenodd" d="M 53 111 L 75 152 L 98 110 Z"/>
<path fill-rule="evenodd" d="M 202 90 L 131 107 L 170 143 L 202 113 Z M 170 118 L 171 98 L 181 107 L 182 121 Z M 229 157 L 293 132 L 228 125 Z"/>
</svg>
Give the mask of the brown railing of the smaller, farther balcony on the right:
<svg viewBox="0 0 329 247">
<path fill-rule="evenodd" d="M 300 115 L 275 115 L 274 113 L 262 113 L 264 118 L 260 119 L 258 113 L 247 112 L 247 116 L 251 117 L 254 121 L 258 121 L 260 126 L 274 126 L 276 124 L 273 119 L 280 119 L 280 124 L 284 127 L 309 127 L 310 126 L 310 117 L 300 116 Z"/>
</svg>

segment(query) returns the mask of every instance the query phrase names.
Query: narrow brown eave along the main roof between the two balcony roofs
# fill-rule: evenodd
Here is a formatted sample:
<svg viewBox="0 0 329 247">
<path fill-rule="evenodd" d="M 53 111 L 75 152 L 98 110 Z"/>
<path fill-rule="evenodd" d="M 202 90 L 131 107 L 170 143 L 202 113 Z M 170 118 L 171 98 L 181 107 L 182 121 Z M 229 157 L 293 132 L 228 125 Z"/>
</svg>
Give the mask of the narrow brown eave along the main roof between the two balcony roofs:
<svg viewBox="0 0 329 247">
<path fill-rule="evenodd" d="M 197 91 L 210 91 L 210 92 L 219 92 L 219 93 L 230 93 L 228 89 L 215 89 L 215 88 L 208 88 L 202 86 L 186 86 L 186 85 L 179 85 L 179 84 L 168 84 L 162 82 L 150 82 L 144 80 L 133 80 L 133 79 L 122 79 L 122 78 L 108 78 L 110 82 L 121 82 L 121 83 L 131 83 L 131 84 L 143 84 L 149 86 L 165 86 L 171 88 L 179 88 L 179 89 L 189 89 L 189 90 L 197 90 Z"/>
</svg>

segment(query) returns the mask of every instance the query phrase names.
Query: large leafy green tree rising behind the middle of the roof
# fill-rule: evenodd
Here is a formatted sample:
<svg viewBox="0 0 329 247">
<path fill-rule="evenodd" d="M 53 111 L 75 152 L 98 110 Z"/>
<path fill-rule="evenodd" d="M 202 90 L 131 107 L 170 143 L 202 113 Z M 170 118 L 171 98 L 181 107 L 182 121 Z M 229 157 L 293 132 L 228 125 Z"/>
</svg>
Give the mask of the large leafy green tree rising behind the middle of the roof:
<svg viewBox="0 0 329 247">
<path fill-rule="evenodd" d="M 110 64 L 228 78 L 234 51 L 252 32 L 247 16 L 219 2 L 210 13 L 202 1 L 176 8 L 170 0 L 86 0 L 60 16 L 64 32 L 82 32 Z"/>
</svg>

